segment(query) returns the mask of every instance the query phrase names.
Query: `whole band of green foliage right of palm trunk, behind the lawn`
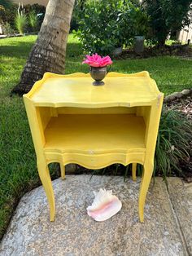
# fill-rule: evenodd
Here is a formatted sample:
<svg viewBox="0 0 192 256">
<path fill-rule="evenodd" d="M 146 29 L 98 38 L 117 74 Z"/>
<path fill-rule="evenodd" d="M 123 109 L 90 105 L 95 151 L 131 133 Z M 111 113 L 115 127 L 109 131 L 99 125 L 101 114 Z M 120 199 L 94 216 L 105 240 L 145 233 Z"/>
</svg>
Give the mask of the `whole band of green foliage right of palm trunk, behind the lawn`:
<svg viewBox="0 0 192 256">
<path fill-rule="evenodd" d="M 191 22 L 191 0 L 76 0 L 72 29 L 85 51 L 109 54 L 132 45 L 135 35 L 153 46 Z"/>
</svg>

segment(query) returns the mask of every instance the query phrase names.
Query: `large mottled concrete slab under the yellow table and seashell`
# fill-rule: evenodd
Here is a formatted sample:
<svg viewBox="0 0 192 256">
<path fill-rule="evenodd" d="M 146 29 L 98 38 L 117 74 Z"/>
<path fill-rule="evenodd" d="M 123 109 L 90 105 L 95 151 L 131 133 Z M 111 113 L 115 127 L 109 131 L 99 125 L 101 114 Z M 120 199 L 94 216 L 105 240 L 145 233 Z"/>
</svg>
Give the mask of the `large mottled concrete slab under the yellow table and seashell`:
<svg viewBox="0 0 192 256">
<path fill-rule="evenodd" d="M 43 188 L 26 194 L 17 207 L 0 255 L 104 255 L 179 256 L 187 255 L 180 228 L 162 179 L 148 192 L 145 223 L 139 223 L 137 198 L 140 179 L 123 177 L 68 175 L 53 182 L 56 198 L 55 222 Z M 118 214 L 97 223 L 86 214 L 94 199 L 93 191 L 112 189 L 122 201 Z"/>
</svg>

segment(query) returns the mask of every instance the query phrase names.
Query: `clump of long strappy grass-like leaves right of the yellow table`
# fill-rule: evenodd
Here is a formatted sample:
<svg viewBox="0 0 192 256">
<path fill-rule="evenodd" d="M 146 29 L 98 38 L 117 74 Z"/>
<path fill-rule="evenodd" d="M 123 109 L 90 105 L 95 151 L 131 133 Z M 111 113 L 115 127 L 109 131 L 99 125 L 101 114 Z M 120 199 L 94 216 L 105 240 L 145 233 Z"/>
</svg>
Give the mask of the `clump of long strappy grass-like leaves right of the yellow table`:
<svg viewBox="0 0 192 256">
<path fill-rule="evenodd" d="M 180 163 L 191 153 L 192 123 L 176 110 L 164 109 L 159 124 L 155 149 L 155 174 L 164 179 L 170 174 L 182 173 Z"/>
</svg>

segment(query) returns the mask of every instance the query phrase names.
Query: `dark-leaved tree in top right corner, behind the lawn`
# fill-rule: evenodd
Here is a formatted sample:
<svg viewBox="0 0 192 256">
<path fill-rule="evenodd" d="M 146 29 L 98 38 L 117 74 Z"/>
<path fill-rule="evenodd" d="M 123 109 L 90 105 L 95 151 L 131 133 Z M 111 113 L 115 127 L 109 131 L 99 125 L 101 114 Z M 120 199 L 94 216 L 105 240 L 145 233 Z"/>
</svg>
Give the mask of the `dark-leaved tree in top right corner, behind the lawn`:
<svg viewBox="0 0 192 256">
<path fill-rule="evenodd" d="M 152 39 L 162 46 L 168 33 L 189 25 L 191 3 L 191 0 L 144 0 L 143 7 L 151 16 Z"/>
</svg>

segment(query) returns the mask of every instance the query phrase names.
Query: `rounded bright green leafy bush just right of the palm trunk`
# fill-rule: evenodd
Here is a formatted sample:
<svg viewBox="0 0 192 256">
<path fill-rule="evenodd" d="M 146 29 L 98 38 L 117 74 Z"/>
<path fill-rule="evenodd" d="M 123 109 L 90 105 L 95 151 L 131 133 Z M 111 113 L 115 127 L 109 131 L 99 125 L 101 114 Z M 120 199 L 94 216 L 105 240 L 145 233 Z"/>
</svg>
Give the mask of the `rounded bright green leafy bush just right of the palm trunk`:
<svg viewBox="0 0 192 256">
<path fill-rule="evenodd" d="M 95 0 L 84 3 L 75 33 L 89 53 L 109 54 L 129 45 L 135 35 L 133 16 L 136 6 L 129 0 Z"/>
</svg>

